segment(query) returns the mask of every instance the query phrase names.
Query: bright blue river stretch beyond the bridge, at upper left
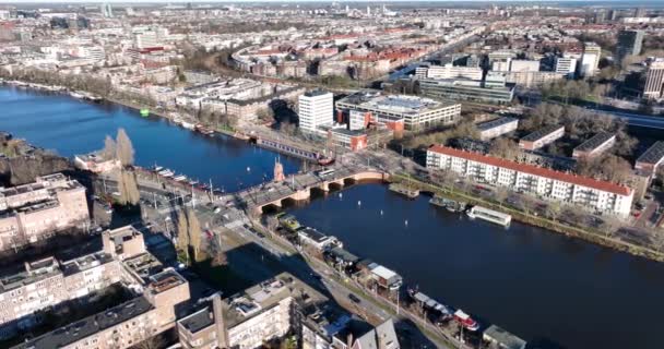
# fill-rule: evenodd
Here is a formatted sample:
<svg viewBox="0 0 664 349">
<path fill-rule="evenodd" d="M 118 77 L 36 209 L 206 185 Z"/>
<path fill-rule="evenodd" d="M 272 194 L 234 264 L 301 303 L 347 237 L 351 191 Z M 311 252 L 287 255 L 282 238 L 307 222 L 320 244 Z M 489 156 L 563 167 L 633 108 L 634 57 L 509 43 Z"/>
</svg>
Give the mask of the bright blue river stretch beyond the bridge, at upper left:
<svg viewBox="0 0 664 349">
<path fill-rule="evenodd" d="M 214 137 L 183 130 L 158 118 L 111 104 L 93 104 L 67 95 L 0 87 L 0 130 L 37 146 L 72 157 L 104 147 L 105 136 L 123 128 L 135 149 L 135 164 L 168 167 L 217 188 L 234 191 L 271 179 L 273 152 L 225 135 Z M 281 156 L 287 173 L 300 161 Z M 247 170 L 249 168 L 249 170 Z"/>
</svg>

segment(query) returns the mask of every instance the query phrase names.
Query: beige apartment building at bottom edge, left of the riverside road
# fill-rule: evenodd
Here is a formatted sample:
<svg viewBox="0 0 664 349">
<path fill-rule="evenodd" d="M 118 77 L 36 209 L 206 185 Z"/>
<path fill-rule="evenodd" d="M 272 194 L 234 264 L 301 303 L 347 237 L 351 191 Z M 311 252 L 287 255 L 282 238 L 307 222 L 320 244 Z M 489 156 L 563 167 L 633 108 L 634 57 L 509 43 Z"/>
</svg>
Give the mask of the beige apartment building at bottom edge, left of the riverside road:
<svg viewBox="0 0 664 349">
<path fill-rule="evenodd" d="M 178 321 L 183 348 L 259 348 L 299 326 L 295 314 L 328 299 L 288 273 Z"/>
</svg>

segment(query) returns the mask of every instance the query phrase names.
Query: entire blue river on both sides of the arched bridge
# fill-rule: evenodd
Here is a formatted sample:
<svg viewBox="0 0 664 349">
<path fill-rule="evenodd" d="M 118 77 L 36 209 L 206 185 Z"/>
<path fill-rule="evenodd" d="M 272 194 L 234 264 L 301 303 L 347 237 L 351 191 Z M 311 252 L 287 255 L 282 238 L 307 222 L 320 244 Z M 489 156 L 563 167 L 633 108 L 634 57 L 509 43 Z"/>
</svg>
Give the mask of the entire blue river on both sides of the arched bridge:
<svg viewBox="0 0 664 349">
<path fill-rule="evenodd" d="M 226 190 L 272 176 L 271 152 L 143 119 L 123 107 L 10 87 L 0 87 L 0 130 L 63 156 L 100 148 L 104 136 L 122 127 L 139 165 L 156 161 L 212 178 Z M 299 166 L 284 163 L 287 172 Z M 427 197 L 408 201 L 380 184 L 342 193 L 289 210 L 439 301 L 524 339 L 547 338 L 565 348 L 663 347 L 656 334 L 664 323 L 664 264 L 518 222 L 505 229 L 471 221 Z"/>
</svg>

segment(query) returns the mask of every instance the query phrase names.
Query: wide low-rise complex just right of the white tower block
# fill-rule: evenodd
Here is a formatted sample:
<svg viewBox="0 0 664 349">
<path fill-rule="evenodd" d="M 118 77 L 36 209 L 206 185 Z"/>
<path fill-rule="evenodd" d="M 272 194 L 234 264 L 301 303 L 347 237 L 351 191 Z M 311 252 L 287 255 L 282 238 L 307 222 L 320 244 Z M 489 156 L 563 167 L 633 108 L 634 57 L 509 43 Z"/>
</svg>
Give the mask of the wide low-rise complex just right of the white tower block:
<svg viewBox="0 0 664 349">
<path fill-rule="evenodd" d="M 336 109 L 369 111 L 379 118 L 403 119 L 407 130 L 424 130 L 437 124 L 453 124 L 461 117 L 461 104 L 443 103 L 406 95 L 382 95 L 360 91 L 336 101 Z"/>
</svg>

